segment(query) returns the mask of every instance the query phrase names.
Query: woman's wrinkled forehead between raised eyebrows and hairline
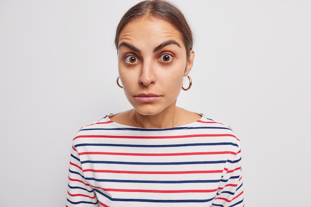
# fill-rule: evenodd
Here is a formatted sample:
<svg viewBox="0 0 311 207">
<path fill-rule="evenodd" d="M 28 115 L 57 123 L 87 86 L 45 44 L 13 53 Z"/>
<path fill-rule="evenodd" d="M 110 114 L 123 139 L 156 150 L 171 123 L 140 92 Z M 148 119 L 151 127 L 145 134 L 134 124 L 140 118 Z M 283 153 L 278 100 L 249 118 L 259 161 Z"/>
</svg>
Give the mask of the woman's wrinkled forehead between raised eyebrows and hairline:
<svg viewBox="0 0 311 207">
<path fill-rule="evenodd" d="M 184 47 L 181 33 L 169 22 L 156 17 L 141 17 L 128 22 L 120 33 L 119 43 L 157 45 L 174 40 Z"/>
</svg>

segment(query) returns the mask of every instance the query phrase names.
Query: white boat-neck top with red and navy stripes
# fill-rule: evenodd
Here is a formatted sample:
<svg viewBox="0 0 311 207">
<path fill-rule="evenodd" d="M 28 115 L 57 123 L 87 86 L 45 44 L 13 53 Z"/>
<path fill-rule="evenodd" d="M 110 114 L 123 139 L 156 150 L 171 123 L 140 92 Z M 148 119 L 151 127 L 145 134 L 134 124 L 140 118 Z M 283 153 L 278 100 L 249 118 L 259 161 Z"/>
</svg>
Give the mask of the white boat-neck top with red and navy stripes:
<svg viewBox="0 0 311 207">
<path fill-rule="evenodd" d="M 67 207 L 243 207 L 240 141 L 202 115 L 168 129 L 103 119 L 73 140 Z"/>
</svg>

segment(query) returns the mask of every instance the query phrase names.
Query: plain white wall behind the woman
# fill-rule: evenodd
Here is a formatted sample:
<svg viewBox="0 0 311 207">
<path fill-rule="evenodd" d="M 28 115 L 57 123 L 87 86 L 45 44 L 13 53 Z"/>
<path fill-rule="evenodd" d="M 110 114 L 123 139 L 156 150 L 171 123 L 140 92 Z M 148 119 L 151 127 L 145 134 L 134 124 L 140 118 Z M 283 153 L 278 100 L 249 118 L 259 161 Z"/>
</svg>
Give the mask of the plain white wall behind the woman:
<svg viewBox="0 0 311 207">
<path fill-rule="evenodd" d="M 76 132 L 130 107 L 113 40 L 136 2 L 0 0 L 1 207 L 65 206 Z M 311 1 L 173 2 L 196 52 L 178 105 L 241 139 L 246 206 L 311 206 Z"/>
</svg>

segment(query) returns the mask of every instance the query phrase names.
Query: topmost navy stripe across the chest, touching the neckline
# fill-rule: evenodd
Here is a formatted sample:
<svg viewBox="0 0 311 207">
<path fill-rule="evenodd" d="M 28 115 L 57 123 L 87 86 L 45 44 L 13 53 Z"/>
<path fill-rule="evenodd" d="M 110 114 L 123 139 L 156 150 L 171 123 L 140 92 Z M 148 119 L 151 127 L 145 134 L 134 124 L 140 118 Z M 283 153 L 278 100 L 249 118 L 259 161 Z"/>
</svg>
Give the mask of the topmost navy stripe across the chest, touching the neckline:
<svg viewBox="0 0 311 207">
<path fill-rule="evenodd" d="M 202 126 L 202 127 L 175 127 L 175 128 L 165 128 L 165 129 L 150 129 L 150 128 L 91 128 L 91 129 L 80 129 L 79 131 L 88 131 L 88 130 L 126 130 L 126 131 L 169 131 L 169 130 L 185 130 L 185 129 L 228 129 L 233 131 L 228 127 L 209 127 L 209 126 Z"/>
</svg>

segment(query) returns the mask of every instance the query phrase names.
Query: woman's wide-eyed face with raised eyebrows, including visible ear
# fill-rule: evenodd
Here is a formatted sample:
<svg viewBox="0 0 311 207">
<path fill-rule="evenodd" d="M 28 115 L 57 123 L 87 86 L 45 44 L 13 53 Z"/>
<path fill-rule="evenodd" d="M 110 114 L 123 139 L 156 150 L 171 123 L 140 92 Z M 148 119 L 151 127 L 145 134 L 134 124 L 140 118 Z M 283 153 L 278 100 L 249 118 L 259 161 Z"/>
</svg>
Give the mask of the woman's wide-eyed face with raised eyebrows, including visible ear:
<svg viewBox="0 0 311 207">
<path fill-rule="evenodd" d="M 192 50 L 187 58 L 179 31 L 164 20 L 141 17 L 120 33 L 120 79 L 130 104 L 143 115 L 174 108 L 193 59 Z"/>
</svg>

